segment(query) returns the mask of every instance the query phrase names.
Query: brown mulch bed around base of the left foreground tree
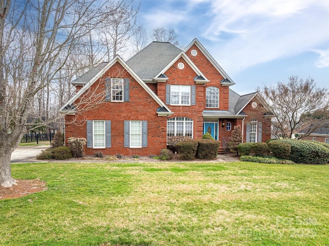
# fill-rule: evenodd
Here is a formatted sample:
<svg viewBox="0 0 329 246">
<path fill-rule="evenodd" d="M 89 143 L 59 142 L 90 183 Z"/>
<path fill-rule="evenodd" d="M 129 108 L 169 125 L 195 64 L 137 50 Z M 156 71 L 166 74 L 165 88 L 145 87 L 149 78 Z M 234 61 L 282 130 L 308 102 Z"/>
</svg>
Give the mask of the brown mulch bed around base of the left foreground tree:
<svg viewBox="0 0 329 246">
<path fill-rule="evenodd" d="M 17 185 L 8 188 L 0 186 L 0 200 L 23 197 L 31 193 L 46 190 L 46 182 L 38 178 L 31 180 L 17 179 Z"/>
</svg>

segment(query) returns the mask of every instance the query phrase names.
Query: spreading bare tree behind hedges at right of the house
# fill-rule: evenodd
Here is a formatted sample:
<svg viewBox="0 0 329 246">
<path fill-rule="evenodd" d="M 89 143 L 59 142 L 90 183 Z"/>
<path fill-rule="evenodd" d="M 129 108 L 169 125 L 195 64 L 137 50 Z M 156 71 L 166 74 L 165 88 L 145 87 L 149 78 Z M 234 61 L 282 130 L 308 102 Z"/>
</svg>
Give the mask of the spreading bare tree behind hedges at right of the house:
<svg viewBox="0 0 329 246">
<path fill-rule="evenodd" d="M 303 80 L 291 76 L 287 84 L 279 82 L 258 88 L 258 91 L 275 115 L 272 119 L 273 134 L 278 138 L 279 135 L 291 138 L 301 127 L 307 129 L 303 135 L 306 137 L 329 119 L 329 93 L 325 88 L 316 87 L 311 78 Z"/>
</svg>

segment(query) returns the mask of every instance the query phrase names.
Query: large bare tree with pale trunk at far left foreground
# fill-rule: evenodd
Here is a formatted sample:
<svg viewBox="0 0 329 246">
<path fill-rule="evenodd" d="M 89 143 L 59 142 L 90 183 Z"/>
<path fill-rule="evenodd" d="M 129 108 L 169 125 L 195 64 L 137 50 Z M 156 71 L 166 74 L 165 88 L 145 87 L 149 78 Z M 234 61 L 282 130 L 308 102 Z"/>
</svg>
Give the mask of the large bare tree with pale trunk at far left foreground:
<svg viewBox="0 0 329 246">
<path fill-rule="evenodd" d="M 94 2 L 0 0 L 1 186 L 16 184 L 10 157 L 25 133 L 38 92 L 57 79 L 66 58 L 87 34 L 84 27 L 102 19 L 103 13 L 92 8 Z"/>
</svg>

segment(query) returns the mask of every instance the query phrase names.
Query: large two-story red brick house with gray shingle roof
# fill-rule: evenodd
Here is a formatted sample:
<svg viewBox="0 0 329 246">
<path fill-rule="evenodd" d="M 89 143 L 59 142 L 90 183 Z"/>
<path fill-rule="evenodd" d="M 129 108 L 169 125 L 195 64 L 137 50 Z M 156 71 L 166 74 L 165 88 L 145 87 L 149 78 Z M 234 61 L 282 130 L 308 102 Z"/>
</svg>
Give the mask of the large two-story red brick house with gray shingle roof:
<svg viewBox="0 0 329 246">
<path fill-rule="evenodd" d="M 87 155 L 158 155 L 168 138 L 200 139 L 206 131 L 223 142 L 235 125 L 242 126 L 244 142 L 270 139 L 272 115 L 260 94 L 231 90 L 233 81 L 197 39 L 184 50 L 152 42 L 128 61 L 117 55 L 72 84 L 77 93 L 60 109 L 65 142 L 86 138 Z M 102 101 L 88 109 L 97 97 L 81 101 L 96 92 Z"/>
</svg>

